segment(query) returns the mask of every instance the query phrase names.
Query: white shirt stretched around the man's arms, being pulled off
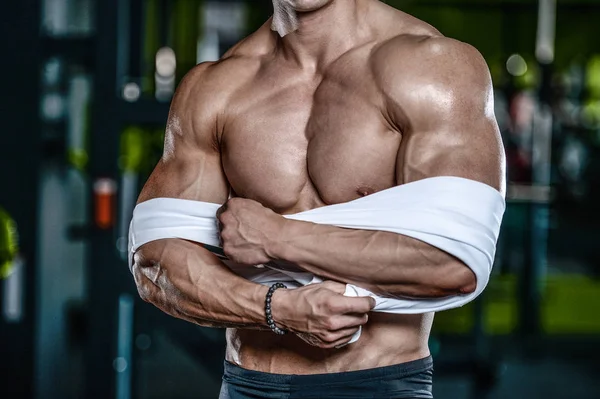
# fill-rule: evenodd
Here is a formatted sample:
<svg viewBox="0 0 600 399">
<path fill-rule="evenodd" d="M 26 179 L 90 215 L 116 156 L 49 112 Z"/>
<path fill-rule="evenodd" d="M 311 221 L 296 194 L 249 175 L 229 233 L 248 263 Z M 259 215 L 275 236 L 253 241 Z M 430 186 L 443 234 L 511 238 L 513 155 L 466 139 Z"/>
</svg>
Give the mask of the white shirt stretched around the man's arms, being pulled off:
<svg viewBox="0 0 600 399">
<path fill-rule="evenodd" d="M 213 203 L 170 198 L 139 204 L 129 232 L 130 266 L 139 247 L 165 238 L 202 243 L 218 252 L 220 242 L 215 215 L 219 207 Z M 421 314 L 459 307 L 481 294 L 489 281 L 504 210 L 504 197 L 490 186 L 458 177 L 434 177 L 285 217 L 405 235 L 454 255 L 473 270 L 477 277 L 476 290 L 445 298 L 384 298 L 354 285 L 346 286 L 347 296 L 375 298 L 374 311 Z M 261 267 L 236 265 L 226 259 L 224 263 L 240 276 L 265 285 L 281 281 L 288 287 L 300 287 L 322 281 L 301 269 L 290 269 L 289 265 L 282 270 L 277 268 L 277 263 Z"/>
</svg>

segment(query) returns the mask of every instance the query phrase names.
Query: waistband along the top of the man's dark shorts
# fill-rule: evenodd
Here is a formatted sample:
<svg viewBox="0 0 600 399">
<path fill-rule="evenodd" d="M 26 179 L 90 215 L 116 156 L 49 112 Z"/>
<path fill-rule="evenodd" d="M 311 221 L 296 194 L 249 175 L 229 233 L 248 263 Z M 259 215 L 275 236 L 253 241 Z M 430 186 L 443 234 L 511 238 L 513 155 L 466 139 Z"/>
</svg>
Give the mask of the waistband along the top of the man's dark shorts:
<svg viewBox="0 0 600 399">
<path fill-rule="evenodd" d="M 242 368 L 236 364 L 225 360 L 225 377 L 232 376 L 241 379 L 248 379 L 265 384 L 303 384 L 315 385 L 322 383 L 349 383 L 358 380 L 370 380 L 376 378 L 396 376 L 402 378 L 412 374 L 420 373 L 433 368 L 433 358 L 428 356 L 423 359 L 413 360 L 406 363 L 395 364 L 392 366 L 377 367 L 366 370 L 346 371 L 340 373 L 327 374 L 273 374 L 264 373 Z"/>
</svg>

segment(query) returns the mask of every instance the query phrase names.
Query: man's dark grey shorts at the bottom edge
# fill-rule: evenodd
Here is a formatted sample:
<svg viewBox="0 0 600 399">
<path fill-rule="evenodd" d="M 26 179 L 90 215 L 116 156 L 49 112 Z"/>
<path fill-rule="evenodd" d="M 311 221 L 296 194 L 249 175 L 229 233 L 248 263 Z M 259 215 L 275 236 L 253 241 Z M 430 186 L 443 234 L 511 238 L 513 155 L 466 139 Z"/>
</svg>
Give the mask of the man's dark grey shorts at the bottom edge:
<svg viewBox="0 0 600 399">
<path fill-rule="evenodd" d="M 225 362 L 220 399 L 433 398 L 431 357 L 346 373 L 287 375 Z"/>
</svg>

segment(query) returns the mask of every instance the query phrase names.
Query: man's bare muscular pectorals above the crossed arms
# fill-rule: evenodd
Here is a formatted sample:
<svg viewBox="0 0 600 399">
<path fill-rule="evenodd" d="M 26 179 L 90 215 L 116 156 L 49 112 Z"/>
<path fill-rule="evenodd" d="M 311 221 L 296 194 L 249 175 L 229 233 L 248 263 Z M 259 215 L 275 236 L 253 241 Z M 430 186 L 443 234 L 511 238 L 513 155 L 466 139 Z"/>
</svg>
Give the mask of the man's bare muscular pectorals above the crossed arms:
<svg viewBox="0 0 600 399">
<path fill-rule="evenodd" d="M 393 186 L 401 137 L 379 98 L 352 66 L 320 81 L 258 82 L 253 101 L 240 102 L 224 128 L 234 193 L 286 213 Z"/>
</svg>

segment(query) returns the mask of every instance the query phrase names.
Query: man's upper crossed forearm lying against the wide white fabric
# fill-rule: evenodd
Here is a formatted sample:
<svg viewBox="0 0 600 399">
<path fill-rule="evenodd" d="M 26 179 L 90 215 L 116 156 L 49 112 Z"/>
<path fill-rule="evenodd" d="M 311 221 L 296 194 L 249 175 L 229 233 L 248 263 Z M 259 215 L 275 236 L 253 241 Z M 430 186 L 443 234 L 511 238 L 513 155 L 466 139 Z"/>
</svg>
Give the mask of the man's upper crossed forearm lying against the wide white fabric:
<svg viewBox="0 0 600 399">
<path fill-rule="evenodd" d="M 431 298 L 474 289 L 474 275 L 461 261 L 395 233 L 288 220 L 269 252 L 274 259 L 384 296 Z"/>
</svg>

